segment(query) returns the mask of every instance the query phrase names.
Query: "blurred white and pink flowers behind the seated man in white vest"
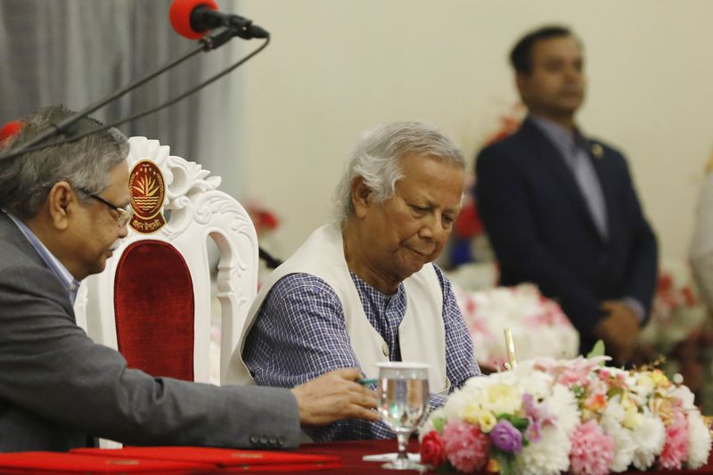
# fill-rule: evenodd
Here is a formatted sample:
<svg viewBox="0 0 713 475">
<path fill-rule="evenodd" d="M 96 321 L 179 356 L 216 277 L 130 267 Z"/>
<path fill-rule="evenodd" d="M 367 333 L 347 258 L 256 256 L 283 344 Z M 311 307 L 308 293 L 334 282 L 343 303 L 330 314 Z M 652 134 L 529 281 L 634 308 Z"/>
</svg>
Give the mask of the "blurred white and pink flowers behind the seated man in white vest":
<svg viewBox="0 0 713 475">
<path fill-rule="evenodd" d="M 507 361 L 502 339 L 512 329 L 518 356 L 569 358 L 578 354 L 579 334 L 561 307 L 531 283 L 468 292 L 454 285 L 455 299 L 471 332 L 478 364 L 495 371 Z"/>
</svg>

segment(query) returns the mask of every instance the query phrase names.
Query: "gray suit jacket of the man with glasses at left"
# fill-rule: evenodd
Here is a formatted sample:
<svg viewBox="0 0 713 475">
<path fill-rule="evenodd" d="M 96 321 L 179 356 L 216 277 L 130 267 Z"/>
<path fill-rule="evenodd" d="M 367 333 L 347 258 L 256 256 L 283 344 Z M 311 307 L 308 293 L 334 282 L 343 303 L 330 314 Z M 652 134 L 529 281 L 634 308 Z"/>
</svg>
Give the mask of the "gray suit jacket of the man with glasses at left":
<svg viewBox="0 0 713 475">
<path fill-rule="evenodd" d="M 132 445 L 291 447 L 287 389 L 217 387 L 128 369 L 75 323 L 69 296 L 0 212 L 0 452 Z"/>
</svg>

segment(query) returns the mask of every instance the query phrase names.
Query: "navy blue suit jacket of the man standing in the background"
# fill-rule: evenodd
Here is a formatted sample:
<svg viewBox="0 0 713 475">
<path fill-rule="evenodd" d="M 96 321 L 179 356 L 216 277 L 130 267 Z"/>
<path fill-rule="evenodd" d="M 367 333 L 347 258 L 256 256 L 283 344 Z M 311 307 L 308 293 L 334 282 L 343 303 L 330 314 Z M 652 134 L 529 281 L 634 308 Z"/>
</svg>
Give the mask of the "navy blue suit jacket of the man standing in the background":
<svg viewBox="0 0 713 475">
<path fill-rule="evenodd" d="M 605 299 L 633 297 L 649 314 L 658 250 L 621 153 L 587 140 L 602 185 L 609 237 L 602 238 L 570 168 L 526 119 L 476 161 L 476 202 L 500 263 L 500 283 L 536 283 L 594 342 Z"/>
</svg>

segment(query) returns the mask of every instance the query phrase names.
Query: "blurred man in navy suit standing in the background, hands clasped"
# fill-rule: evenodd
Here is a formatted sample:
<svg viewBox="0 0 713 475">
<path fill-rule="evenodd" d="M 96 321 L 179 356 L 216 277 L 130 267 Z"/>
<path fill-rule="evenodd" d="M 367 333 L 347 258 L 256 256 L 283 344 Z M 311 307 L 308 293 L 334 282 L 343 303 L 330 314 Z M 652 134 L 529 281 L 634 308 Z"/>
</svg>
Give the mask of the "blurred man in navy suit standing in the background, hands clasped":
<svg viewBox="0 0 713 475">
<path fill-rule="evenodd" d="M 585 61 L 569 29 L 530 32 L 510 60 L 529 115 L 476 162 L 476 198 L 501 283 L 536 283 L 559 300 L 582 352 L 602 339 L 626 362 L 650 311 L 658 258 L 627 161 L 576 123 Z"/>
</svg>

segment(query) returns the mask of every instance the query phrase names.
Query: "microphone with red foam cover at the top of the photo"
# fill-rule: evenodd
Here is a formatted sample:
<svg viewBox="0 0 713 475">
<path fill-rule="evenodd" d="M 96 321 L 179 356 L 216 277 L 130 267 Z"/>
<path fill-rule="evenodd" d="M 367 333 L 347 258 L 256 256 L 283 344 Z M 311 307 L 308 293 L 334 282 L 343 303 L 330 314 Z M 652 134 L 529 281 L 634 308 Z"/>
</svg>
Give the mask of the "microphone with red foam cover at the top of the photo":
<svg viewBox="0 0 713 475">
<path fill-rule="evenodd" d="M 174 0 L 168 18 L 182 37 L 199 39 L 210 29 L 226 27 L 243 39 L 266 38 L 270 34 L 252 20 L 217 11 L 215 0 Z"/>
</svg>

